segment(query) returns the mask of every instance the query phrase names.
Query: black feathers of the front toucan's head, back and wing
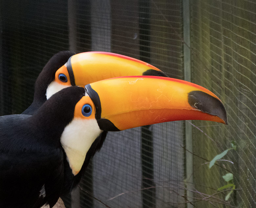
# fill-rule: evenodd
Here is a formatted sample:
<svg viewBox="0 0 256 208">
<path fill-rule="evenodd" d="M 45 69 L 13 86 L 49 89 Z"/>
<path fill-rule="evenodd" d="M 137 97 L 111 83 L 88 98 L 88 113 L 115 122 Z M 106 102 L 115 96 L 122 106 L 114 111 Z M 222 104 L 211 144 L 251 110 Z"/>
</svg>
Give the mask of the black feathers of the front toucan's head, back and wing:
<svg viewBox="0 0 256 208">
<path fill-rule="evenodd" d="M 82 87 L 54 94 L 33 115 L 0 117 L 0 207 L 52 207 L 72 174 L 60 143 Z M 66 173 L 66 175 L 64 175 Z"/>
</svg>

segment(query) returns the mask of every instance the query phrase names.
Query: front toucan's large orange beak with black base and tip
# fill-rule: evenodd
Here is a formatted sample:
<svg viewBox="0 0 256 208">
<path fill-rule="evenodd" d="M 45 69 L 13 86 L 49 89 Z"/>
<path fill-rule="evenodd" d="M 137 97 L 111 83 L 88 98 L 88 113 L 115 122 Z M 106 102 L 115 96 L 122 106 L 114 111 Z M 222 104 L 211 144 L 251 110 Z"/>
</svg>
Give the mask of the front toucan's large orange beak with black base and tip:
<svg viewBox="0 0 256 208">
<path fill-rule="evenodd" d="M 128 128 L 178 120 L 207 120 L 227 124 L 221 100 L 200 85 L 156 77 L 119 77 L 85 86 L 96 107 L 101 130 Z"/>
</svg>

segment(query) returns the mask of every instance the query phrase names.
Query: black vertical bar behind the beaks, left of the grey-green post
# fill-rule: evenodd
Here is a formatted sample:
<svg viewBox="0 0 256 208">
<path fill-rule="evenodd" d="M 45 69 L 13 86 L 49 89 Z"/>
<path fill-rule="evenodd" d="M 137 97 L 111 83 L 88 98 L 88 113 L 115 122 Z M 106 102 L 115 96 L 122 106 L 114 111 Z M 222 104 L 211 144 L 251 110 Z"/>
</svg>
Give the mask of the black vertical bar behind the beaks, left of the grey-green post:
<svg viewBox="0 0 256 208">
<path fill-rule="evenodd" d="M 150 62 L 150 1 L 139 0 L 140 59 Z M 142 207 L 155 207 L 153 136 L 150 125 L 141 128 Z M 145 189 L 150 188 L 150 189 Z"/>
</svg>

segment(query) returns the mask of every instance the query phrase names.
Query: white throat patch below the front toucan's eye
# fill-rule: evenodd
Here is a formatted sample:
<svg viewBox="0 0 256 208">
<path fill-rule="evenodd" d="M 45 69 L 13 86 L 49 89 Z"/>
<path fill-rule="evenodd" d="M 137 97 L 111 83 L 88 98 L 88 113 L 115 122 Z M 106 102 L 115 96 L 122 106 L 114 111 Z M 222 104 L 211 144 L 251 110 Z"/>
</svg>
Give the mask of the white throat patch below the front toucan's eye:
<svg viewBox="0 0 256 208">
<path fill-rule="evenodd" d="M 81 170 L 89 148 L 101 132 L 95 119 L 74 119 L 65 127 L 60 143 L 74 175 Z"/>
</svg>

